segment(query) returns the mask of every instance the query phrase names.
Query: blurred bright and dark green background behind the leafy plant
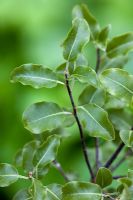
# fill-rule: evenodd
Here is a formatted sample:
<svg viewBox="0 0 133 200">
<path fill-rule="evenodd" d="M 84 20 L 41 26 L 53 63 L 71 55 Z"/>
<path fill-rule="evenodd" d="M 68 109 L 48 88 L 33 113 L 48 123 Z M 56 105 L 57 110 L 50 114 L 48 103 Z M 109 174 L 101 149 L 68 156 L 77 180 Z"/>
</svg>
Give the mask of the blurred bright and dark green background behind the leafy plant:
<svg viewBox="0 0 133 200">
<path fill-rule="evenodd" d="M 24 109 L 36 101 L 53 101 L 69 105 L 64 88 L 34 90 L 10 83 L 14 67 L 24 63 L 38 63 L 57 67 L 63 62 L 61 42 L 71 26 L 71 11 L 75 4 L 88 4 L 101 26 L 112 25 L 110 36 L 133 30 L 132 0 L 0 0 L 0 162 L 12 163 L 16 151 L 32 139 L 23 128 Z M 87 51 L 89 63 L 95 65 L 95 51 Z M 133 54 L 126 68 L 133 73 Z M 79 89 L 79 88 L 78 88 Z M 79 90 L 75 88 L 75 95 Z M 76 132 L 75 127 L 71 132 Z M 76 132 L 77 134 L 77 132 Z M 66 170 L 75 169 L 86 179 L 86 166 L 80 150 L 79 138 L 66 141 L 59 160 Z M 65 151 L 69 145 L 69 151 Z M 66 161 L 66 163 L 65 163 Z M 83 173 L 84 172 L 84 173 Z M 54 174 L 54 176 L 53 176 Z M 46 183 L 63 183 L 54 170 Z M 0 199 L 11 199 L 23 181 L 0 189 Z"/>
</svg>

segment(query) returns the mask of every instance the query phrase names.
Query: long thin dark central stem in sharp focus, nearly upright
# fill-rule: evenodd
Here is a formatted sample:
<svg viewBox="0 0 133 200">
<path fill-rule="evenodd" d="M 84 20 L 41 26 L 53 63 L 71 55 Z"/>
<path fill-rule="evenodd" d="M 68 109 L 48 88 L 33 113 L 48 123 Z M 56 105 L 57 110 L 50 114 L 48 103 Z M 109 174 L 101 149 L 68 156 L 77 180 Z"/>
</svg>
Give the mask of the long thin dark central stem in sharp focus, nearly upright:
<svg viewBox="0 0 133 200">
<path fill-rule="evenodd" d="M 71 91 L 71 88 L 69 86 L 69 80 L 68 80 L 68 78 L 69 78 L 69 74 L 68 74 L 68 72 L 66 70 L 65 71 L 66 87 L 67 87 L 68 95 L 70 97 L 71 105 L 72 105 L 72 108 L 73 108 L 73 115 L 75 117 L 75 120 L 76 120 L 78 128 L 79 128 L 79 133 L 80 133 L 80 139 L 81 139 L 81 145 L 82 145 L 82 150 L 83 150 L 84 158 L 85 158 L 87 167 L 89 169 L 89 172 L 90 172 L 90 175 L 91 175 L 91 179 L 94 182 L 95 176 L 94 176 L 94 173 L 92 171 L 92 168 L 91 168 L 91 165 L 90 165 L 90 161 L 88 159 L 87 147 L 86 147 L 86 143 L 85 143 L 85 140 L 84 140 L 83 129 L 82 129 L 82 125 L 81 125 L 81 123 L 79 121 L 79 118 L 78 118 L 78 114 L 77 114 L 76 106 L 75 106 L 74 99 L 73 99 L 73 96 L 72 96 L 72 91 Z"/>
</svg>

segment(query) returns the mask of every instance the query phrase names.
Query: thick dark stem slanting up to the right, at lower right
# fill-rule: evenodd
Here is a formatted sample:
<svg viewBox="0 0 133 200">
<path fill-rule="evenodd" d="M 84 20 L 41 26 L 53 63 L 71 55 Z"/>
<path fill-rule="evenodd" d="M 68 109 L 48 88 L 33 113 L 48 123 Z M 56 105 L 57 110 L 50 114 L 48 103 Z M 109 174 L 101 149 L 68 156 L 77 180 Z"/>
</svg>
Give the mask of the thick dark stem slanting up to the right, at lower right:
<svg viewBox="0 0 133 200">
<path fill-rule="evenodd" d="M 109 160 L 106 162 L 106 164 L 104 165 L 104 167 L 106 167 L 106 168 L 110 167 L 110 165 L 117 158 L 117 156 L 119 155 L 119 153 L 121 152 L 121 150 L 123 149 L 124 146 L 125 146 L 125 144 L 123 142 L 120 143 L 120 145 L 118 146 L 118 148 L 116 149 L 116 151 L 113 153 L 113 155 L 109 158 Z"/>
</svg>

